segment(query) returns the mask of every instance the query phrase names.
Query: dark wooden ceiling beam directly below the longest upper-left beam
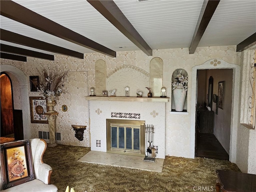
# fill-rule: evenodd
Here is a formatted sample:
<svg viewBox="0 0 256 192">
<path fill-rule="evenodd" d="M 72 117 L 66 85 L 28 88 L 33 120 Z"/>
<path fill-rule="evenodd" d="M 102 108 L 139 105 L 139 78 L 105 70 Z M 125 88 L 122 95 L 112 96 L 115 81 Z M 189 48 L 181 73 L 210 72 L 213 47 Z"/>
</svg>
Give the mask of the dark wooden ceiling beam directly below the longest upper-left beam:
<svg viewBox="0 0 256 192">
<path fill-rule="evenodd" d="M 54 52 L 62 55 L 72 56 L 80 59 L 84 58 L 84 54 L 82 53 L 69 50 L 63 47 L 59 47 L 50 43 L 46 43 L 40 40 L 36 40 L 30 37 L 26 37 L 26 36 L 23 36 L 14 32 L 10 32 L 4 29 L 1 29 L 0 33 L 1 33 L 0 39 L 3 41 L 8 41 L 8 42 L 12 42 L 12 43 L 16 43 L 16 44 L 20 44 L 28 47 L 33 47 L 36 49 L 41 49 L 49 52 Z"/>
</svg>

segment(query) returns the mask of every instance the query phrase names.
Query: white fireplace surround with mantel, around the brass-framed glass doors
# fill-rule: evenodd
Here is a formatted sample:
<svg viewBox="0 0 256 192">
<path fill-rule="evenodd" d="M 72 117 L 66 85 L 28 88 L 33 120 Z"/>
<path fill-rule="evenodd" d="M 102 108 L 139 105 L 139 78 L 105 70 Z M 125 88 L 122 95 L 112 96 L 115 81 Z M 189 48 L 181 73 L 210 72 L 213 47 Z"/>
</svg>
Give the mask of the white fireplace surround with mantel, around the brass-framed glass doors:
<svg viewBox="0 0 256 192">
<path fill-rule="evenodd" d="M 91 150 L 107 152 L 106 119 L 140 120 L 154 126 L 156 158 L 165 158 L 165 104 L 168 98 L 151 99 L 86 97 L 90 107 Z M 146 146 L 142 155 L 145 154 Z"/>
</svg>

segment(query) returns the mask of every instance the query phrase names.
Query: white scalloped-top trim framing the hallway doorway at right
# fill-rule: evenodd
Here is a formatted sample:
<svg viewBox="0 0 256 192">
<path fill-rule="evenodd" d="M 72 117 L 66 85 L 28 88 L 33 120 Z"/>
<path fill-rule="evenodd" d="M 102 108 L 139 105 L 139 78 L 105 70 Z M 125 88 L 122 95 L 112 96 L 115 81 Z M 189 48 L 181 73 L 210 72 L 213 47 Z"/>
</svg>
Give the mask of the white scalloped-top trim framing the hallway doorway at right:
<svg viewBox="0 0 256 192">
<path fill-rule="evenodd" d="M 218 64 L 216 64 L 216 60 Z M 219 64 L 220 62 L 220 64 Z M 214 65 L 216 64 L 216 65 Z M 232 108 L 231 108 L 231 125 L 230 125 L 230 162 L 236 162 L 236 138 L 238 126 L 238 100 L 239 100 L 239 82 L 240 66 L 230 64 L 221 59 L 211 59 L 202 65 L 192 68 L 192 86 L 191 86 L 191 121 L 190 121 L 190 158 L 195 157 L 195 133 L 196 133 L 196 78 L 197 70 L 200 69 L 233 69 L 233 86 L 232 86 Z"/>
</svg>

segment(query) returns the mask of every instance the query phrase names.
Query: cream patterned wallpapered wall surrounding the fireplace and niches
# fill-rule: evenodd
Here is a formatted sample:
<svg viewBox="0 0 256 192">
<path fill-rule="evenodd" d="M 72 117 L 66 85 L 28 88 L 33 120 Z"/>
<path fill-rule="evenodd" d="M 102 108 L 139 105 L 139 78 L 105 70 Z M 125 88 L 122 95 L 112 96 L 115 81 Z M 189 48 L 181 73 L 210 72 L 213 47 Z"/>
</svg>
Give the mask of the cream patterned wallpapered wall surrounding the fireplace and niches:
<svg viewBox="0 0 256 192">
<path fill-rule="evenodd" d="M 216 46 L 197 48 L 194 54 L 189 54 L 188 48 L 153 50 L 153 56 L 146 56 L 142 51 L 117 52 L 116 58 L 110 58 L 99 53 L 85 54 L 84 59 L 72 58 L 69 56 L 56 56 L 55 61 L 29 58 L 28 62 L 18 62 L 1 59 L 1 65 L 7 64 L 16 66 L 27 77 L 28 96 L 39 96 L 38 92 L 30 92 L 29 76 L 36 75 L 36 68 L 44 65 L 59 65 L 69 69 L 70 80 L 67 88 L 69 94 L 62 94 L 57 101 L 55 110 L 59 112 L 56 119 L 57 132 L 61 132 L 61 144 L 89 146 L 89 124 L 88 124 L 88 102 L 85 96 L 88 96 L 88 87 L 95 86 L 95 69 L 94 64 L 97 60 L 106 62 L 106 74 L 112 72 L 115 68 L 128 64 L 136 66 L 150 72 L 150 60 L 159 57 L 164 62 L 163 86 L 166 87 L 167 96 L 171 98 L 171 76 L 177 68 L 184 68 L 188 72 L 188 112 L 191 105 L 191 74 L 192 67 L 201 65 L 204 62 L 219 58 L 231 64 L 240 65 L 240 53 L 236 52 L 236 46 Z M 137 87 L 138 82 L 130 80 L 129 75 L 124 77 L 130 88 Z M 14 80 L 15 81 L 15 80 Z M 18 82 L 16 82 L 18 84 Z M 118 79 L 116 79 L 118 84 Z M 136 84 L 136 85 L 135 85 Z M 148 82 L 149 85 L 149 82 Z M 144 86 L 140 88 L 145 90 Z M 16 88 L 15 88 L 16 90 Z M 14 106 L 20 108 L 22 102 L 19 100 L 20 93 L 18 88 L 14 91 Z M 166 155 L 190 157 L 190 115 L 173 115 L 169 114 L 171 110 L 171 99 L 166 103 Z M 68 106 L 67 112 L 62 112 L 62 104 Z M 29 108 L 29 106 L 26 106 Z M 28 110 L 29 111 L 29 110 Z M 28 114 L 29 115 L 29 114 Z M 71 124 L 82 124 L 88 126 L 85 131 L 85 139 L 79 142 L 74 137 L 74 131 Z M 47 124 L 30 124 L 29 137 L 38 137 L 38 130 L 48 130 Z"/>
</svg>

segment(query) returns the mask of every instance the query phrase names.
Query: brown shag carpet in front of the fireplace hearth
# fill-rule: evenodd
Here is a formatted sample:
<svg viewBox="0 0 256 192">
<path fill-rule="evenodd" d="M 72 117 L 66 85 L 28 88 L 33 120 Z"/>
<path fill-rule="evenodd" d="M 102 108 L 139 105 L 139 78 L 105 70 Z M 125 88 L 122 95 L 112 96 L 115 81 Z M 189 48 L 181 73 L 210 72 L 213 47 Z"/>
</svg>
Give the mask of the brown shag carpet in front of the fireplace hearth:
<svg viewBox="0 0 256 192">
<path fill-rule="evenodd" d="M 240 171 L 228 160 L 166 156 L 162 173 L 78 162 L 90 148 L 58 144 L 48 147 L 45 163 L 52 166 L 52 184 L 76 192 L 193 192 L 215 191 L 216 169 Z"/>
</svg>

